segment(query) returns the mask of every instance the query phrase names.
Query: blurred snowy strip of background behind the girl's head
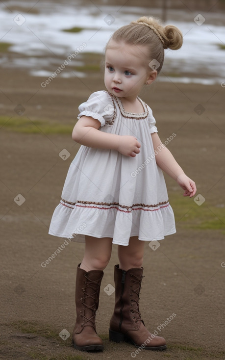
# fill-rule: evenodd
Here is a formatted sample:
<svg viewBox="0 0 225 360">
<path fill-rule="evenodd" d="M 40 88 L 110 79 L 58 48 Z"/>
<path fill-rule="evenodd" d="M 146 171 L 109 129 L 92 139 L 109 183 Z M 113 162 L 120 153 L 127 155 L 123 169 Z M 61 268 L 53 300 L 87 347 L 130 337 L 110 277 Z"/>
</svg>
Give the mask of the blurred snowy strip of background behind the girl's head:
<svg viewBox="0 0 225 360">
<path fill-rule="evenodd" d="M 173 23 L 184 35 L 179 51 L 165 52 L 165 72 L 160 80 L 174 77 L 175 82 L 214 84 L 225 73 L 224 11 L 224 0 L 140 0 L 138 6 L 134 0 L 6 0 L 0 2 L 0 66 L 25 68 L 32 76 L 49 77 L 85 42 L 81 56 L 58 75 L 85 77 L 87 71 L 99 70 L 97 54 L 102 54 L 118 27 L 149 15 Z"/>
</svg>

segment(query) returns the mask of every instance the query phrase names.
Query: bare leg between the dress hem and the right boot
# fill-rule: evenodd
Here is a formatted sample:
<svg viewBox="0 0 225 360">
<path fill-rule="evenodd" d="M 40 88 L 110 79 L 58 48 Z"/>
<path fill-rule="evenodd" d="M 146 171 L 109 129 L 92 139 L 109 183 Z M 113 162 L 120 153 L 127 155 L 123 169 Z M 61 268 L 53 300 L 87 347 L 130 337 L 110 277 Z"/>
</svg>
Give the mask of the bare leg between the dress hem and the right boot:
<svg viewBox="0 0 225 360">
<path fill-rule="evenodd" d="M 129 245 L 118 245 L 118 258 L 120 268 L 127 271 L 132 268 L 141 267 L 143 263 L 145 241 L 138 240 L 138 236 L 129 239 Z"/>
</svg>

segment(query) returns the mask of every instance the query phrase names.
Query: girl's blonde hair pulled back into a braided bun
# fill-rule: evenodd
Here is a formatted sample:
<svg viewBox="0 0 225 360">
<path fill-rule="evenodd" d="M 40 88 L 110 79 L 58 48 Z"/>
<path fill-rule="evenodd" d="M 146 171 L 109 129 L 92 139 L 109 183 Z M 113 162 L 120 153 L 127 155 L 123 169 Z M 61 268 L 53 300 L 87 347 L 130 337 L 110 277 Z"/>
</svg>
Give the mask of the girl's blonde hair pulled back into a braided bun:
<svg viewBox="0 0 225 360">
<path fill-rule="evenodd" d="M 177 50 L 183 44 L 182 33 L 176 26 L 163 26 L 158 19 L 147 16 L 120 27 L 113 33 L 111 39 L 125 44 L 148 46 L 149 62 L 153 59 L 158 61 L 158 73 L 163 66 L 164 49 Z"/>
</svg>

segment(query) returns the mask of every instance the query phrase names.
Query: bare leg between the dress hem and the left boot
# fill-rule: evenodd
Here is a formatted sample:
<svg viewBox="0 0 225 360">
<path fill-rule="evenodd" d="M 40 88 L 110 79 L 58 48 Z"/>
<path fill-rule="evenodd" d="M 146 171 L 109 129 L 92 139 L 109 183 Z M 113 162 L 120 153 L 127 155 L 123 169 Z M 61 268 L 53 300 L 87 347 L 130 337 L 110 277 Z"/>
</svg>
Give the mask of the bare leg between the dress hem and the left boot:
<svg viewBox="0 0 225 360">
<path fill-rule="evenodd" d="M 111 237 L 93 237 L 85 235 L 85 251 L 80 268 L 85 271 L 104 270 L 112 252 Z"/>
</svg>

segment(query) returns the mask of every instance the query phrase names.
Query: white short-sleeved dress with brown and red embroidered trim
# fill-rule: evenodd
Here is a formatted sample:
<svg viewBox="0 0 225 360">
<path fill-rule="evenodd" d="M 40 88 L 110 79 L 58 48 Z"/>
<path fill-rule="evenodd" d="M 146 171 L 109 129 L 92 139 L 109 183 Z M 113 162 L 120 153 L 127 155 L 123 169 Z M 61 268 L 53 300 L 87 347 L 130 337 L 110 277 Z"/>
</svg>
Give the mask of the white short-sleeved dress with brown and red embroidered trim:
<svg viewBox="0 0 225 360">
<path fill-rule="evenodd" d="M 107 91 L 93 93 L 79 106 L 78 119 L 91 116 L 100 131 L 135 136 L 140 153 L 80 146 L 70 165 L 60 204 L 52 215 L 51 235 L 84 242 L 83 235 L 111 237 L 113 244 L 164 239 L 176 232 L 165 180 L 155 161 L 151 133 L 157 132 L 150 107 L 138 98 L 143 113 L 124 110 L 120 98 Z"/>
</svg>

